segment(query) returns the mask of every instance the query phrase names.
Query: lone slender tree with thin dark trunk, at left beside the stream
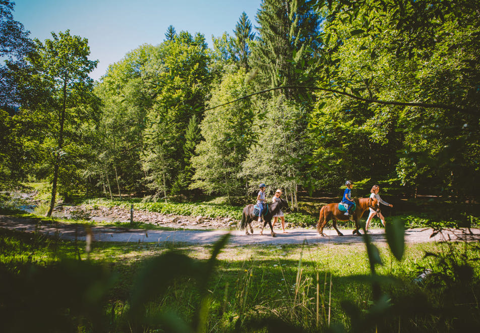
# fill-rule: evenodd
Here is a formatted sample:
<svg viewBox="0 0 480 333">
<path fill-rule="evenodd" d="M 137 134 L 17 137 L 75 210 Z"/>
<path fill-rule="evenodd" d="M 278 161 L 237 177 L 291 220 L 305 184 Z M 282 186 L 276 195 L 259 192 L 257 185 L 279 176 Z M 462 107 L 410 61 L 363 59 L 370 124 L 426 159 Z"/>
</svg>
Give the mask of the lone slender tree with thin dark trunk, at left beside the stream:
<svg viewBox="0 0 480 333">
<path fill-rule="evenodd" d="M 28 57 L 31 78 L 28 84 L 39 85 L 42 96 L 28 103 L 30 115 L 38 121 L 38 141 L 53 167 L 52 192 L 47 216 L 55 204 L 59 173 L 70 160 L 69 149 L 81 142 L 84 123 L 94 117 L 93 80 L 88 74 L 97 61 L 88 60 L 88 40 L 70 35 L 70 31 L 52 33 L 44 43 L 38 39 L 35 52 Z M 39 90 L 40 91 L 40 90 Z M 70 150 L 72 152 L 72 150 Z"/>
</svg>

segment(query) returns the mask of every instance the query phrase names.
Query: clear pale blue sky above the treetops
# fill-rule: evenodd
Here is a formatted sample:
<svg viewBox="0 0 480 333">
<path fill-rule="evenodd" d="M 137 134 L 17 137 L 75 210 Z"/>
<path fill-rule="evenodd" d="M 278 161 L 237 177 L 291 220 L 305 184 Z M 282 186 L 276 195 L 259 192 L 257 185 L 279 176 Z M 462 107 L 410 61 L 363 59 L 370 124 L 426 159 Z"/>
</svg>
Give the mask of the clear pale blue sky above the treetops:
<svg viewBox="0 0 480 333">
<path fill-rule="evenodd" d="M 98 80 L 108 65 L 144 43 L 164 41 L 172 25 L 176 32 L 212 35 L 233 29 L 247 13 L 252 26 L 262 0 L 14 0 L 13 16 L 30 31 L 31 38 L 44 41 L 51 32 L 70 29 L 71 35 L 88 38 L 90 59 L 99 60 L 90 76 Z"/>
</svg>

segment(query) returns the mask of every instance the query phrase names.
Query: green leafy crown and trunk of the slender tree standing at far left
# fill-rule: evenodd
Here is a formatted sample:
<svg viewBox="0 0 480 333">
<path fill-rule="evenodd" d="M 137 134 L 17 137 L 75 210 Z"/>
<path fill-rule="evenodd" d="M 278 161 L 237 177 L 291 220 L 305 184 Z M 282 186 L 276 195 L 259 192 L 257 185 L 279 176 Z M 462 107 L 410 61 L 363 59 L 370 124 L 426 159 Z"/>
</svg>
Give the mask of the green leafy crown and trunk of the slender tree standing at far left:
<svg viewBox="0 0 480 333">
<path fill-rule="evenodd" d="M 25 91 L 32 90 L 22 100 L 21 117 L 31 127 L 30 144 L 40 155 L 38 169 L 51 177 L 50 215 L 57 190 L 69 198 L 84 183 L 80 171 L 92 157 L 89 139 L 98 99 L 88 74 L 97 61 L 88 60 L 88 40 L 69 30 L 34 42 L 27 73 L 18 73 L 17 79 Z"/>
</svg>

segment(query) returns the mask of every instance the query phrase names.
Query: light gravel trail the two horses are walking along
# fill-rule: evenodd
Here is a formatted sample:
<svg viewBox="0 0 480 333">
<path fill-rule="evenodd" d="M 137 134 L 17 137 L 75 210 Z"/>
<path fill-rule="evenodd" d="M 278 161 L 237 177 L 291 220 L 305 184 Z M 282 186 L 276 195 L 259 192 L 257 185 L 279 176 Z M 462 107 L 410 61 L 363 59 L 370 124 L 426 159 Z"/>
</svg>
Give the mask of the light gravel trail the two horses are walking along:
<svg viewBox="0 0 480 333">
<path fill-rule="evenodd" d="M 35 230 L 58 236 L 65 240 L 85 241 L 86 232 L 83 227 L 69 225 L 69 224 L 40 224 L 36 225 L 35 219 L 19 218 L 6 215 L 0 215 L 0 228 L 7 228 L 12 230 L 33 232 Z M 335 230 L 324 230 L 328 235 L 321 237 L 315 229 L 290 229 L 287 234 L 282 234 L 281 230 L 275 229 L 277 237 L 271 237 L 269 230 L 264 230 L 264 235 L 259 235 L 260 230 L 255 229 L 255 234 L 247 236 L 244 231 L 239 230 L 135 230 L 124 228 L 106 228 L 94 227 L 92 228 L 93 240 L 100 242 L 175 242 L 188 244 L 213 244 L 222 235 L 230 232 L 230 244 L 236 245 L 281 245 L 281 244 L 345 244 L 345 243 L 359 243 L 363 242 L 363 237 L 351 235 L 351 229 L 343 230 L 345 236 L 337 236 Z M 467 230 L 451 230 L 445 231 L 442 234 L 432 235 L 432 229 L 407 229 L 405 231 L 405 242 L 407 243 L 423 243 L 434 242 L 442 240 L 480 240 L 480 230 L 471 229 L 473 235 L 470 235 Z M 375 229 L 369 233 L 373 242 L 386 242 L 385 231 L 383 229 Z"/>
</svg>

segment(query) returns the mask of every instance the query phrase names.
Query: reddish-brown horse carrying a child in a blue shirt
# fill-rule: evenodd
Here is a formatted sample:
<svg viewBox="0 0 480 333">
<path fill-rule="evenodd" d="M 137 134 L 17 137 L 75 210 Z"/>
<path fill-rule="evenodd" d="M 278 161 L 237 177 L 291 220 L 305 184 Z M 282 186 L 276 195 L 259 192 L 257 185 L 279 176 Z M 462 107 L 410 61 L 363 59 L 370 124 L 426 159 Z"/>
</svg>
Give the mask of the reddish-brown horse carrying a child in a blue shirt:
<svg viewBox="0 0 480 333">
<path fill-rule="evenodd" d="M 361 235 L 358 229 L 360 228 L 360 224 L 358 221 L 364 214 L 364 212 L 369 209 L 375 209 L 378 210 L 378 202 L 375 199 L 372 198 L 361 198 L 361 199 L 355 199 L 355 205 L 356 208 L 353 211 L 353 220 L 355 221 L 355 230 L 353 230 L 353 235 Z M 338 203 L 329 203 L 320 209 L 320 218 L 318 219 L 318 224 L 317 224 L 317 231 L 320 235 L 326 236 L 323 233 L 323 228 L 327 224 L 327 222 L 331 219 L 333 219 L 333 228 L 337 231 L 338 236 L 343 236 L 343 234 L 338 231 L 337 229 L 337 220 L 339 221 L 348 221 L 350 216 L 344 215 L 344 211 L 341 211 L 338 209 Z"/>
</svg>

